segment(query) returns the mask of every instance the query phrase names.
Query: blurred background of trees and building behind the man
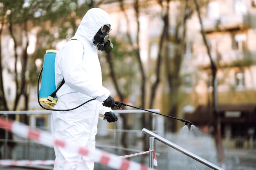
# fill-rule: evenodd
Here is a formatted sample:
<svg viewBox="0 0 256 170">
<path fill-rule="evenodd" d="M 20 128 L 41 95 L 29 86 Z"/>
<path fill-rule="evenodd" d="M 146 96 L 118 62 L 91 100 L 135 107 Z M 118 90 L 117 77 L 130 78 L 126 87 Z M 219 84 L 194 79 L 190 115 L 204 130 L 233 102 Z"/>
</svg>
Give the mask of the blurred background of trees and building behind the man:
<svg viewBox="0 0 256 170">
<path fill-rule="evenodd" d="M 255 162 L 255 0 L 1 0 L 2 116 L 49 131 L 50 112 L 44 112 L 37 98 L 45 52 L 69 41 L 92 7 L 111 18 L 113 50 L 99 51 L 99 59 L 103 85 L 115 100 L 193 122 L 213 142 L 216 164 L 227 169 L 241 164 L 236 155 L 227 158 L 233 151 L 253 152 L 249 163 Z M 115 113 L 118 122 L 99 121 L 97 144 L 108 150 L 102 146 L 108 141 L 121 148 L 108 151 L 119 155 L 135 152 L 127 148 L 148 150 L 142 128 L 173 139 L 184 126 L 152 113 Z M 29 141 L 2 129 L 0 138 L 2 159 L 35 159 Z M 44 155 L 39 159 L 54 159 L 52 150 Z"/>
</svg>

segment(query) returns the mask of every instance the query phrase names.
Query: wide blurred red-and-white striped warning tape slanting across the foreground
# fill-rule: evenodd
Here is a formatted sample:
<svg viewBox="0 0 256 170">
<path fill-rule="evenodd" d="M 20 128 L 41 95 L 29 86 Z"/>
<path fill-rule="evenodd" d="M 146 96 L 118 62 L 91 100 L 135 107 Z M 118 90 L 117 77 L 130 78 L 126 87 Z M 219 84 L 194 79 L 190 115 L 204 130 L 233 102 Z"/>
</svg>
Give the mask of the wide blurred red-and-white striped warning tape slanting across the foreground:
<svg viewBox="0 0 256 170">
<path fill-rule="evenodd" d="M 86 156 L 95 162 L 101 163 L 105 166 L 108 166 L 114 169 L 152 170 L 135 161 L 128 161 L 126 159 L 122 159 L 117 155 L 107 153 L 103 150 L 99 150 L 98 148 L 96 148 L 95 150 L 91 150 L 90 148 L 82 147 L 77 144 L 67 142 L 64 139 L 54 138 L 52 137 L 51 133 L 47 131 L 31 129 L 29 126 L 22 124 L 20 122 L 16 122 L 16 121 L 13 122 L 11 120 L 5 120 L 4 118 L 0 117 L 0 128 L 6 129 L 7 131 L 10 131 L 20 137 L 31 139 L 45 146 L 49 146 L 49 147 L 58 146 L 58 147 L 64 148 L 67 151 L 70 151 L 73 153 L 74 152 L 79 153 L 80 155 Z M 4 162 L 1 161 L 0 163 L 4 163 Z M 24 161 L 23 163 L 27 163 L 27 162 Z M 36 161 L 30 161 L 31 165 L 35 163 Z M 43 163 L 43 161 L 39 161 L 39 163 Z M 44 163 L 47 163 L 47 161 L 45 161 Z"/>
</svg>

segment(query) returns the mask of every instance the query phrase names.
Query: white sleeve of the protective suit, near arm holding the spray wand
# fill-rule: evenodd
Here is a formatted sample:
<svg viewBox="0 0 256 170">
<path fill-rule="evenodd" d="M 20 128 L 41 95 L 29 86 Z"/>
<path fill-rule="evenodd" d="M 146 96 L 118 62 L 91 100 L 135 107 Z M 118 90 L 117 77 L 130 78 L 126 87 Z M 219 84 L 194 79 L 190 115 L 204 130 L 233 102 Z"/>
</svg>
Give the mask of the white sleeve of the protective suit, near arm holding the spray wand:
<svg viewBox="0 0 256 170">
<path fill-rule="evenodd" d="M 79 41 L 71 41 L 67 42 L 60 54 L 62 58 L 60 64 L 65 83 L 77 92 L 103 102 L 110 95 L 110 91 L 101 84 L 95 83 L 95 78 L 90 74 L 86 74 L 83 70 L 83 46 Z M 101 72 L 101 70 L 95 71 Z"/>
</svg>

